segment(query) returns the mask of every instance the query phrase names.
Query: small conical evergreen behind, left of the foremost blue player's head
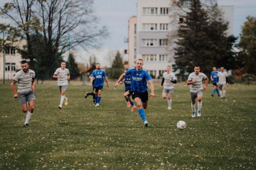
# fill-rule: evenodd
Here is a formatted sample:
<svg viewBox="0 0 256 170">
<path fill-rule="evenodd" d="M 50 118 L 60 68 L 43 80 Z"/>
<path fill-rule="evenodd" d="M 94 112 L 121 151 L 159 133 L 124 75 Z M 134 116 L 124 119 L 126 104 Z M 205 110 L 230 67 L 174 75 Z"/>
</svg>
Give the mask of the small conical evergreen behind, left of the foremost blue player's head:
<svg viewBox="0 0 256 170">
<path fill-rule="evenodd" d="M 119 51 L 115 56 L 115 59 L 112 61 L 111 68 L 107 68 L 107 75 L 110 79 L 118 79 L 119 76 L 123 73 L 124 64 L 123 59 Z"/>
</svg>

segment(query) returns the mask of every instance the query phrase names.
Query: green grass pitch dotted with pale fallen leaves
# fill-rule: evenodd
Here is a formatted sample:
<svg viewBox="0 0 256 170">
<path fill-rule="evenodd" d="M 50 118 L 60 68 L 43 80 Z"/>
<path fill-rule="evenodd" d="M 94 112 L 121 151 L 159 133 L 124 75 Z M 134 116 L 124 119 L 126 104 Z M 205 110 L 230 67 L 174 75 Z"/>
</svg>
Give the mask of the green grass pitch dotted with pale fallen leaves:
<svg viewBox="0 0 256 170">
<path fill-rule="evenodd" d="M 36 85 L 29 128 L 11 85 L 0 85 L 0 169 L 255 169 L 256 86 L 231 85 L 226 100 L 203 93 L 201 117 L 191 117 L 189 86 L 178 83 L 167 110 L 155 83 L 145 110 L 126 108 L 124 86 L 104 86 L 100 107 L 92 106 L 92 87 L 71 82 L 68 106 L 57 108 L 56 81 Z M 150 92 L 150 90 L 149 90 Z M 197 107 L 196 107 L 197 108 Z M 186 122 L 185 130 L 176 123 Z"/>
</svg>

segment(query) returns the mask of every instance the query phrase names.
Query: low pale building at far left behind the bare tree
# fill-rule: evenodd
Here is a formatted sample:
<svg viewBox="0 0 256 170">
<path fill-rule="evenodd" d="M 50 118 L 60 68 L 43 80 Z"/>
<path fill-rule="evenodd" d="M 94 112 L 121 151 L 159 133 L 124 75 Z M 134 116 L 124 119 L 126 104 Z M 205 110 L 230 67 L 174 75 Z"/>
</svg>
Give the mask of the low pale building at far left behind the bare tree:
<svg viewBox="0 0 256 170">
<path fill-rule="evenodd" d="M 24 44 L 26 44 L 26 41 L 22 40 L 21 42 L 14 42 L 11 46 L 5 46 L 5 62 L 4 53 L 0 53 L 0 80 L 4 79 L 4 69 L 5 80 L 12 80 L 16 74 L 16 70 L 21 70 L 20 62 L 23 59 L 21 58 L 21 54 L 17 52 L 17 48 L 22 48 Z"/>
</svg>

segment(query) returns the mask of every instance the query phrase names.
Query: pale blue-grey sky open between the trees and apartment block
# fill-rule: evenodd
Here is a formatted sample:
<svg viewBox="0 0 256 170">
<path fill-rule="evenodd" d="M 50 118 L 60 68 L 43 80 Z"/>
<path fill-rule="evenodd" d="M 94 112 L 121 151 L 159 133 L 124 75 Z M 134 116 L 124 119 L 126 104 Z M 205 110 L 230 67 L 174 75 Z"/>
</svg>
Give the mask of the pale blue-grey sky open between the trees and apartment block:
<svg viewBox="0 0 256 170">
<path fill-rule="evenodd" d="M 128 37 L 128 20 L 136 15 L 138 0 L 95 0 L 96 15 L 100 18 L 100 25 L 106 25 L 110 36 L 103 42 L 103 57 L 108 49 L 127 49 L 128 43 L 124 38 Z M 0 0 L 0 6 L 11 0 Z M 234 6 L 233 34 L 239 36 L 241 26 L 246 21 L 246 16 L 256 17 L 256 0 L 218 0 L 219 6 Z M 0 19 L 0 22 L 4 20 Z M 98 52 L 98 51 L 97 51 Z M 92 52 L 93 53 L 93 52 Z"/>
</svg>

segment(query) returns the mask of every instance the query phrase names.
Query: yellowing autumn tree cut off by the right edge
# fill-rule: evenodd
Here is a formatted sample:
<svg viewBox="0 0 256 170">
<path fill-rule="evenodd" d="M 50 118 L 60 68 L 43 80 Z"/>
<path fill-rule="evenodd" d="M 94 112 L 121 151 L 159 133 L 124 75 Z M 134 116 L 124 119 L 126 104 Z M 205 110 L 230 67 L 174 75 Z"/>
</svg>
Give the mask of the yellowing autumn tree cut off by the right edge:
<svg viewBox="0 0 256 170">
<path fill-rule="evenodd" d="M 240 55 L 249 74 L 256 75 L 256 17 L 246 17 L 240 34 Z"/>
</svg>

